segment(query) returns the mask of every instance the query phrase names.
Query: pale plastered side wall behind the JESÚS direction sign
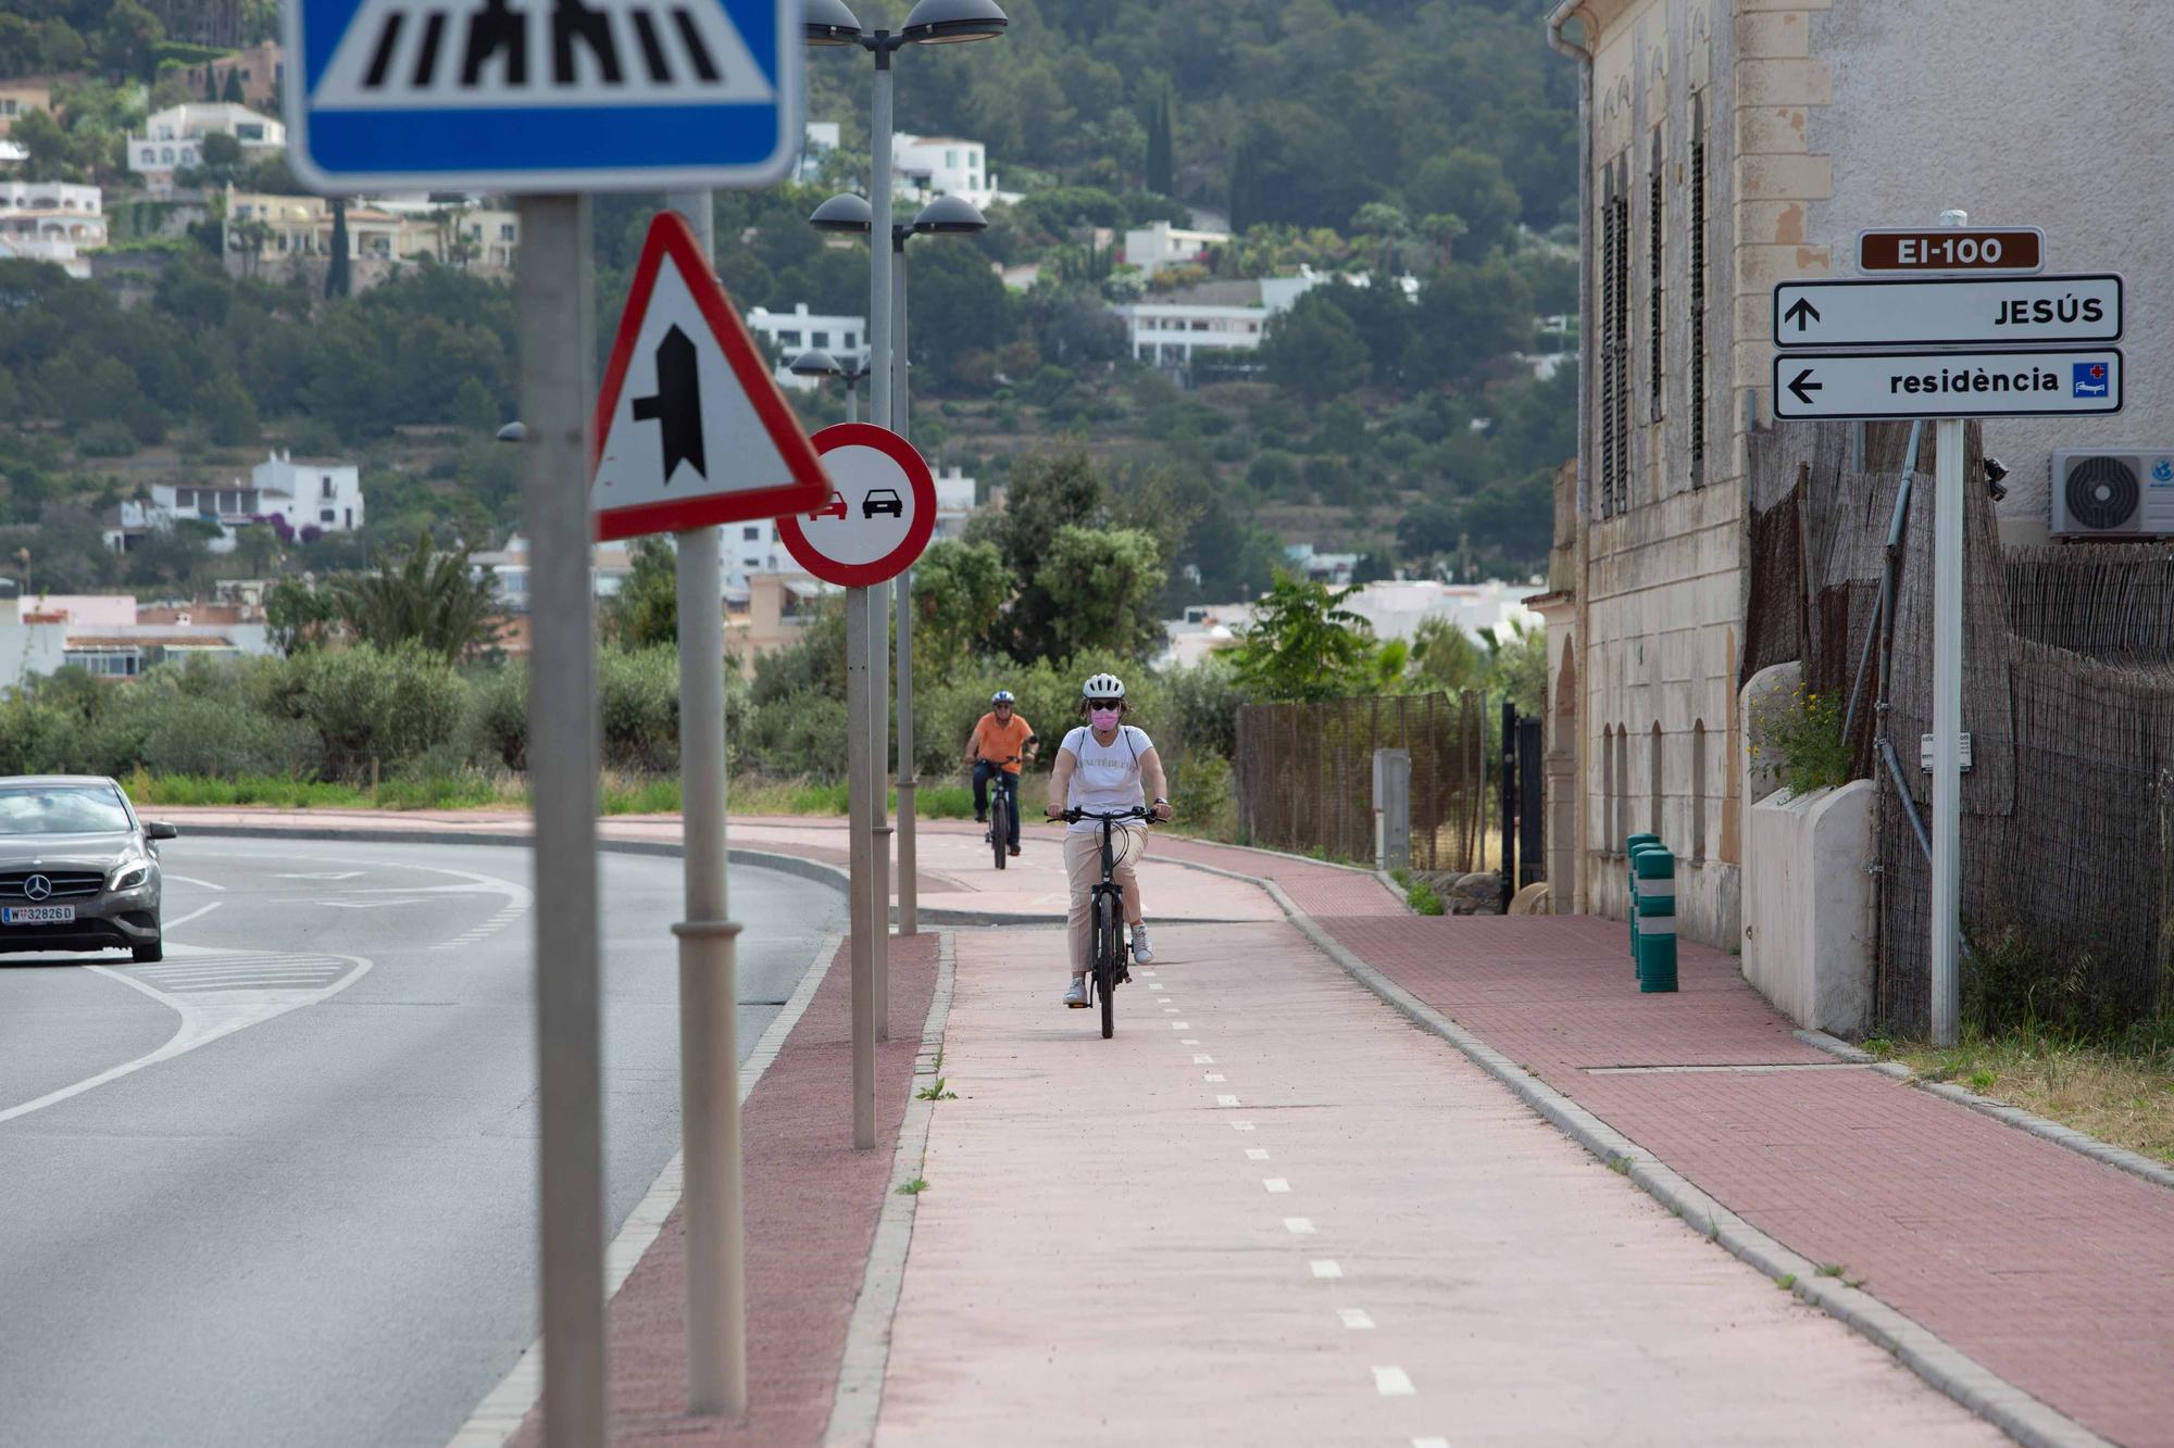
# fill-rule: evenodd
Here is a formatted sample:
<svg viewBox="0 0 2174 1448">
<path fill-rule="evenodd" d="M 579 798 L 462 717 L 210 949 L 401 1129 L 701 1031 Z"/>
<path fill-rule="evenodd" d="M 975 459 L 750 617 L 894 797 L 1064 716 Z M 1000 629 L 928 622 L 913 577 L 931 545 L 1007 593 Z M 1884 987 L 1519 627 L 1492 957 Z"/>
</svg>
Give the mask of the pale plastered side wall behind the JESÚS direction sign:
<svg viewBox="0 0 2174 1448">
<path fill-rule="evenodd" d="M 2054 448 L 2174 448 L 2174 39 L 2170 7 L 2137 0 L 1839 0 L 1813 15 L 1833 59 L 1833 104 L 1809 143 L 1833 157 L 1835 196 L 1811 239 L 1854 276 L 1865 226 L 2044 226 L 2048 272 L 2122 272 L 2126 411 L 1985 424 L 2009 465 L 2004 528 L 2050 520 Z"/>
</svg>

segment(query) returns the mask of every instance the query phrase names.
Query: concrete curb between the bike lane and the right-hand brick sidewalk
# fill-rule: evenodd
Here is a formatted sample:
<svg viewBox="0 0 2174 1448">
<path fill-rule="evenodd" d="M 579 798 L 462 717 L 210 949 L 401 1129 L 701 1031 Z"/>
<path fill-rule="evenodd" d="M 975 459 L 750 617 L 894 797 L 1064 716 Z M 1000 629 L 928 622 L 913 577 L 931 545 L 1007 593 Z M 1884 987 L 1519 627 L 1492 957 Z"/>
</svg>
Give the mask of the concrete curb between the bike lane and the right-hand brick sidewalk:
<svg viewBox="0 0 2174 1448">
<path fill-rule="evenodd" d="M 1507 1085 L 1517 1100 L 1611 1170 L 1635 1181 L 1648 1196 L 1683 1218 L 1685 1226 L 1704 1235 L 1707 1241 L 1726 1248 L 1739 1261 L 1774 1278 L 1778 1287 L 1785 1285 L 1804 1302 L 1824 1309 L 1828 1315 L 1881 1344 L 1920 1378 L 1978 1418 L 1985 1418 L 2015 1441 L 2026 1444 L 2026 1448 L 2111 1448 L 2104 1437 L 2039 1402 L 2013 1383 L 1998 1378 L 1983 1363 L 1946 1344 L 1911 1318 L 1904 1318 L 1894 1307 L 1887 1307 L 1870 1291 L 1850 1287 L 1839 1278 L 1820 1276 L 1817 1263 L 1791 1252 L 1774 1237 L 1728 1211 L 1674 1168 L 1654 1159 L 1637 1141 L 1515 1065 L 1494 1046 L 1346 950 L 1311 915 L 1300 911 L 1274 881 L 1254 881 L 1254 885 L 1265 889 L 1283 913 L 1291 918 L 1291 924 L 1320 946 L 1322 954 L 1341 965 L 1346 974 L 1380 996 L 1422 1031 L 1439 1035 L 1461 1050 L 1474 1065 Z"/>
</svg>

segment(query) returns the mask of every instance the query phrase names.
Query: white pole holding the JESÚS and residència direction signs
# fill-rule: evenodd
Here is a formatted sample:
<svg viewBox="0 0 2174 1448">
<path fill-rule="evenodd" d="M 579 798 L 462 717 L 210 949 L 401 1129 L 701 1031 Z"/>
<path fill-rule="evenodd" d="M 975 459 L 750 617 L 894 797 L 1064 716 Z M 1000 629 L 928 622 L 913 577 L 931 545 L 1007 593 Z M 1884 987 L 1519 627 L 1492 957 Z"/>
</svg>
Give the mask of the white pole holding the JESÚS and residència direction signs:
<svg viewBox="0 0 2174 1448">
<path fill-rule="evenodd" d="M 1941 211 L 1941 226 L 1970 213 Z M 1959 1035 L 1963 918 L 1963 420 L 1935 424 L 1933 478 L 1933 1044 Z"/>
</svg>

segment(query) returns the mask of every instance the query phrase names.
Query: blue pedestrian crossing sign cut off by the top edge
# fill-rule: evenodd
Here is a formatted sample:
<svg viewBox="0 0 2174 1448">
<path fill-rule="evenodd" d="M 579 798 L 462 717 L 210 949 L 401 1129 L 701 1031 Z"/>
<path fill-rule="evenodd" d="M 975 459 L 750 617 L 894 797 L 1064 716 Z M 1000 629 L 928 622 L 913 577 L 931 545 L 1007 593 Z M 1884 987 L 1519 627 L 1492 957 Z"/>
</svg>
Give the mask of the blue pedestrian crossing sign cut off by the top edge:
<svg viewBox="0 0 2174 1448">
<path fill-rule="evenodd" d="M 759 187 L 800 152 L 800 0 L 285 0 L 287 159 L 372 189 Z"/>
</svg>

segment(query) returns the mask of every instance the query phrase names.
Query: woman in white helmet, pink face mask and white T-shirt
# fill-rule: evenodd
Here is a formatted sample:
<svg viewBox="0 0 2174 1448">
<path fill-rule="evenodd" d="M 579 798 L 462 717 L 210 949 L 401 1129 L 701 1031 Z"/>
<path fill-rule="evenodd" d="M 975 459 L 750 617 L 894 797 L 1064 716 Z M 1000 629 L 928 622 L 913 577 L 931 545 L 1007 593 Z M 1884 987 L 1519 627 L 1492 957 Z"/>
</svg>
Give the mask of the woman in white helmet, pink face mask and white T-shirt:
<svg viewBox="0 0 2174 1448">
<path fill-rule="evenodd" d="M 1080 713 L 1087 715 L 1087 724 L 1070 731 L 1065 741 L 1057 746 L 1046 815 L 1057 817 L 1067 809 L 1115 813 L 1141 809 L 1152 798 L 1154 817 L 1170 817 L 1163 761 L 1157 757 L 1148 731 L 1124 722 L 1130 711 L 1124 681 L 1115 674 L 1096 674 L 1080 685 Z M 1133 926 L 1133 959 L 1146 965 L 1154 959 L 1154 950 L 1148 946 L 1148 924 L 1139 909 L 1135 865 L 1148 846 L 1148 826 L 1139 820 L 1120 824 L 1111 846 L 1117 857 L 1113 878 L 1124 889 L 1124 922 Z M 1072 987 L 1065 991 L 1065 1004 L 1087 1009 L 1087 909 L 1089 891 L 1102 878 L 1102 824 L 1098 820 L 1078 820 L 1065 831 L 1065 874 L 1072 881 Z"/>
</svg>

